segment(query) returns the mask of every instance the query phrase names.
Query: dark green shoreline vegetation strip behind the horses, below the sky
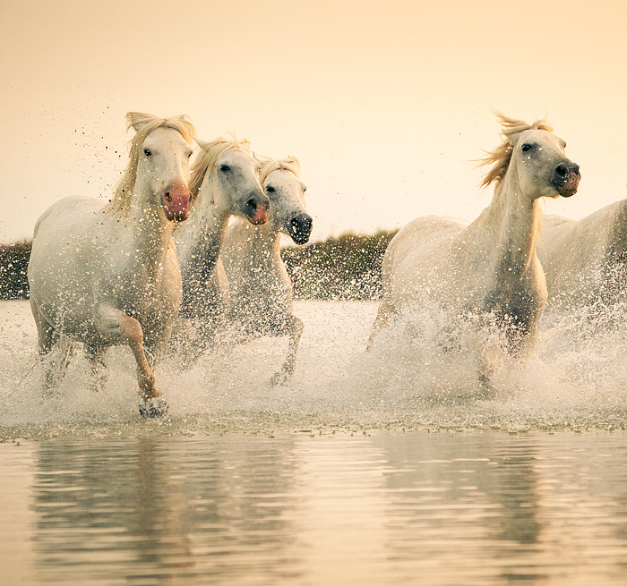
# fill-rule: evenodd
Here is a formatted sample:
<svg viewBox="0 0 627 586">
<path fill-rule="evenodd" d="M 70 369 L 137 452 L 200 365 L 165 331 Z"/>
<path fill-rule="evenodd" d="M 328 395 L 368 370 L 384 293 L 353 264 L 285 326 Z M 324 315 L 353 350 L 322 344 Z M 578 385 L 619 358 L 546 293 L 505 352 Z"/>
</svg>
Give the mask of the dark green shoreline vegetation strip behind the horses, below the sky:
<svg viewBox="0 0 627 586">
<path fill-rule="evenodd" d="M 381 261 L 395 231 L 342 234 L 325 242 L 288 246 L 281 256 L 296 299 L 376 300 Z M 28 299 L 30 242 L 0 245 L 0 299 Z"/>
</svg>

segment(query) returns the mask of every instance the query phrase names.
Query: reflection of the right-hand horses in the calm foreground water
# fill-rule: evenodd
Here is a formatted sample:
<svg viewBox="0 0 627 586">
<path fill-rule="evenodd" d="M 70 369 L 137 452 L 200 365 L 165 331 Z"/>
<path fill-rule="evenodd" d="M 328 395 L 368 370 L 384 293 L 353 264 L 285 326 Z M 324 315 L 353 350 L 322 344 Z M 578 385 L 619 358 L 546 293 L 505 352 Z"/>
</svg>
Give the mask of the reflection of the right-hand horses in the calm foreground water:
<svg viewBox="0 0 627 586">
<path fill-rule="evenodd" d="M 379 437 L 391 465 L 388 546 L 405 579 L 418 564 L 434 584 L 442 573 L 464 584 L 623 583 L 625 454 L 603 440 L 573 450 L 564 436 L 548 446 L 494 433 Z"/>
</svg>

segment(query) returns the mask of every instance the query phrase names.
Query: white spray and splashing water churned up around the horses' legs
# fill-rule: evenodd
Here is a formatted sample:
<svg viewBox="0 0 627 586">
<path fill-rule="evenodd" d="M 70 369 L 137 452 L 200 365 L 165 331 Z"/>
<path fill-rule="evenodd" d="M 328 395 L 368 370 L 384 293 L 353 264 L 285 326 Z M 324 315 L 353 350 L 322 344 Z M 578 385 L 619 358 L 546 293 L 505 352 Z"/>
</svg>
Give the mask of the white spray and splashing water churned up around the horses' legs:
<svg viewBox="0 0 627 586">
<path fill-rule="evenodd" d="M 143 421 L 131 353 L 108 352 L 109 378 L 95 392 L 87 361 L 73 357 L 45 396 L 28 303 L 0 304 L 0 438 L 100 437 L 216 430 L 624 429 L 627 425 L 625 309 L 544 318 L 524 367 L 503 362 L 489 395 L 478 384 L 471 344 L 448 344 L 435 313 L 419 327 L 393 327 L 365 352 L 376 304 L 300 301 L 305 321 L 296 373 L 270 386 L 287 338 L 263 338 L 207 354 L 191 369 L 157 369 L 167 419 Z M 426 318 L 425 318 L 426 317 Z M 459 341 L 459 338 L 458 338 Z"/>
</svg>

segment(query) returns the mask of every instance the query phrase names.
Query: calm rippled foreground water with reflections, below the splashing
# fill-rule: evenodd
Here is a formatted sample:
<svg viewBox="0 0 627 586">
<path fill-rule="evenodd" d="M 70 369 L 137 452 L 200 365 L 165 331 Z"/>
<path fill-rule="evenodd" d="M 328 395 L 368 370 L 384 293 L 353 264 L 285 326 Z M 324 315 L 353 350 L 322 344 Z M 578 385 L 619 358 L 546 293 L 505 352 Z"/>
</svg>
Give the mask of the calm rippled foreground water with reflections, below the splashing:
<svg viewBox="0 0 627 586">
<path fill-rule="evenodd" d="M 0 525 L 38 584 L 624 582 L 624 434 L 310 435 L 35 444 Z"/>
</svg>

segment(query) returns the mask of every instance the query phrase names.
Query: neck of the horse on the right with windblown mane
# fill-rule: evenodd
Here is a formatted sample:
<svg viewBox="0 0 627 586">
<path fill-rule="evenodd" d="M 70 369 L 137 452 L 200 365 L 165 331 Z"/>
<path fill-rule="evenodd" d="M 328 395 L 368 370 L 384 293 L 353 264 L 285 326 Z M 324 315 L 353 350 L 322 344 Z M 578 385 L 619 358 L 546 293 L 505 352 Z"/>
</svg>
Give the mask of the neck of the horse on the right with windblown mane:
<svg viewBox="0 0 627 586">
<path fill-rule="evenodd" d="M 494 189 L 485 210 L 485 221 L 494 237 L 497 265 L 506 275 L 524 275 L 536 256 L 536 242 L 542 212 L 520 188 L 513 174 L 506 174 Z"/>
</svg>

